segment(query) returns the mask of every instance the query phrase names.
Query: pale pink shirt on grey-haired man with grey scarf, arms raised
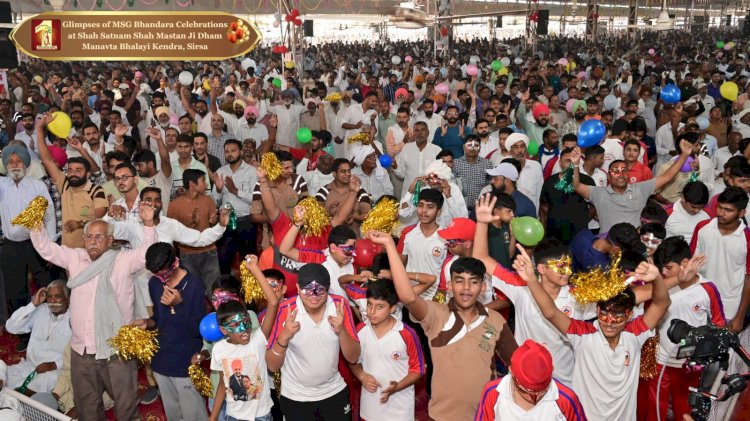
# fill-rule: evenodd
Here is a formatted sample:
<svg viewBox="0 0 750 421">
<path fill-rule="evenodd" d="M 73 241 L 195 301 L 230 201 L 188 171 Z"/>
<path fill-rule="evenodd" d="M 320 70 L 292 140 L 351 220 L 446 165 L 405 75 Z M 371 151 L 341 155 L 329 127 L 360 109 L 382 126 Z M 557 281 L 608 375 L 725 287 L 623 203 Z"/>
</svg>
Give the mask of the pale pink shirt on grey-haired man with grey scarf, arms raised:
<svg viewBox="0 0 750 421">
<path fill-rule="evenodd" d="M 154 228 L 144 227 L 143 231 L 143 245 L 134 250 L 121 251 L 115 259 L 110 277 L 123 324 L 133 321 L 133 274 L 146 266 L 146 249 L 156 241 Z M 67 269 L 71 279 L 91 264 L 85 249 L 60 246 L 51 242 L 46 233 L 31 231 L 31 242 L 44 260 Z M 97 276 L 70 293 L 70 327 L 73 330 L 70 347 L 79 355 L 96 353 L 94 301 L 98 282 Z"/>
</svg>

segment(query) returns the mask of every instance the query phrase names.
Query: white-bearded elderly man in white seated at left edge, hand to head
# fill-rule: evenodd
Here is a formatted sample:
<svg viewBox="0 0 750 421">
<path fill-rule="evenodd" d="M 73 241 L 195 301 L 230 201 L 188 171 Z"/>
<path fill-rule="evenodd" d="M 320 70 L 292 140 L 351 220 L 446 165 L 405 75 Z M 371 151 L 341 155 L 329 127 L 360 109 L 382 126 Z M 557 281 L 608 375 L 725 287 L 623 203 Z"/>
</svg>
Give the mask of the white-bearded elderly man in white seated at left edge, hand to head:
<svg viewBox="0 0 750 421">
<path fill-rule="evenodd" d="M 65 283 L 54 281 L 47 288 L 40 288 L 31 303 L 16 310 L 5 323 L 10 333 L 31 332 L 26 358 L 7 367 L 7 378 L 0 378 L 5 386 L 20 387 L 21 393 L 27 396 L 49 393 L 55 387 L 71 335 L 69 297 L 70 290 Z M 5 368 L 5 363 L 0 361 L 0 373 Z"/>
</svg>

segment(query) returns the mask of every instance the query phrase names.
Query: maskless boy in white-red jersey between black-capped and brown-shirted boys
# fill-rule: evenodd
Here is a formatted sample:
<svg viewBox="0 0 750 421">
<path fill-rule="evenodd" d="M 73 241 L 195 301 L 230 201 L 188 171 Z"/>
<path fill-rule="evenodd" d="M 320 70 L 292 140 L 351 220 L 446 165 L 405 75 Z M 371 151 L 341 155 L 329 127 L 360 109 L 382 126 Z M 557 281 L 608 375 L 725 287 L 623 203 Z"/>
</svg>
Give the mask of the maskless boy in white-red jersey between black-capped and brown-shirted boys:
<svg viewBox="0 0 750 421">
<path fill-rule="evenodd" d="M 362 382 L 362 420 L 414 419 L 414 384 L 424 376 L 424 355 L 414 329 L 394 317 L 397 304 L 390 280 L 367 284 L 367 321 L 357 326 L 362 356 L 352 365 Z"/>
</svg>

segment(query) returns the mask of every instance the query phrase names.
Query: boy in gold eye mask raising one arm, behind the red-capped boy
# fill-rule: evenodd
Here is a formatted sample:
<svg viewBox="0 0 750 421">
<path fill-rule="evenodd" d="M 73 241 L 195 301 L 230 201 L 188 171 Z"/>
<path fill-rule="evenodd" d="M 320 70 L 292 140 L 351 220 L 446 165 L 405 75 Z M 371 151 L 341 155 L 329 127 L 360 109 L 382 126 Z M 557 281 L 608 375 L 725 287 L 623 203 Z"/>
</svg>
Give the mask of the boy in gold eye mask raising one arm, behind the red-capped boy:
<svg viewBox="0 0 750 421">
<path fill-rule="evenodd" d="M 477 230 L 474 237 L 474 257 L 480 259 L 492 274 L 492 286 L 505 294 L 515 306 L 515 338 L 517 343 L 533 339 L 547 346 L 555 361 L 555 378 L 563 384 L 573 382 L 573 345 L 540 311 L 526 281 L 498 264 L 487 253 L 487 225 L 492 218 L 494 198 L 482 197 L 477 202 Z M 539 273 L 532 282 L 540 284 L 554 300 L 555 308 L 566 316 L 579 320 L 596 317 L 593 305 L 582 306 L 570 294 L 568 281 L 572 259 L 568 248 L 555 239 L 545 239 L 534 248 L 534 262 Z"/>
</svg>

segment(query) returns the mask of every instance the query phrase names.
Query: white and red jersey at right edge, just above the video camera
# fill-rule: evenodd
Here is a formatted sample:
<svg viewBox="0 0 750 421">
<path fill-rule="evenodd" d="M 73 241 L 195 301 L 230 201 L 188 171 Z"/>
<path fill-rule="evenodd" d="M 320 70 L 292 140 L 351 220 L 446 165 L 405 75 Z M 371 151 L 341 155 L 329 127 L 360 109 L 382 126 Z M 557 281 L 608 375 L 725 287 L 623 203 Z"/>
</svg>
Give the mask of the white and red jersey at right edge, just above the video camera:
<svg viewBox="0 0 750 421">
<path fill-rule="evenodd" d="M 716 218 L 699 222 L 690 241 L 693 255 L 706 255 L 706 266 L 701 274 L 716 284 L 724 315 L 730 320 L 737 314 L 745 275 L 750 271 L 749 245 L 750 229 L 744 222 L 740 222 L 733 233 L 722 235 Z"/>
</svg>

